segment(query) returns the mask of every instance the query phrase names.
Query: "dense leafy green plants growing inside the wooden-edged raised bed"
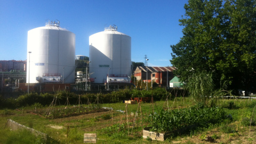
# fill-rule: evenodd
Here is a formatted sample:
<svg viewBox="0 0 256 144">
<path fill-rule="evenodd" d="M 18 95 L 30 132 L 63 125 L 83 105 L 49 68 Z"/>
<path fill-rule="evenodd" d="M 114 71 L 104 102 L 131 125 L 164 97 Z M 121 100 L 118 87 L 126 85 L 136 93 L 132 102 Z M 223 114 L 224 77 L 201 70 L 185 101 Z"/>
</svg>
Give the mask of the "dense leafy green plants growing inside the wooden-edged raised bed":
<svg viewBox="0 0 256 144">
<path fill-rule="evenodd" d="M 208 127 L 210 124 L 218 124 L 226 119 L 226 112 L 221 108 L 197 108 L 190 107 L 180 110 L 161 110 L 158 114 L 151 114 L 151 131 L 170 132 L 189 127 Z"/>
</svg>

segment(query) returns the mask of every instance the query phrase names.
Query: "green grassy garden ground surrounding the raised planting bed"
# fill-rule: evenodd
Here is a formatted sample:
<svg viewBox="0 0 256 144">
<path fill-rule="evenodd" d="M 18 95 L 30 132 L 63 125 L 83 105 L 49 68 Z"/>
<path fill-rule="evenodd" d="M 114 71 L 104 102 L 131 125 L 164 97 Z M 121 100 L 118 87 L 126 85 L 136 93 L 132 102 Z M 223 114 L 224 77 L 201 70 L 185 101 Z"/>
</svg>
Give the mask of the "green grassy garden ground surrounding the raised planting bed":
<svg viewBox="0 0 256 144">
<path fill-rule="evenodd" d="M 141 105 L 128 104 L 127 107 L 125 103 L 105 103 L 101 106 L 112 109 L 62 118 L 45 118 L 35 115 L 46 113 L 49 107 L 2 109 L 0 110 L 0 143 L 42 143 L 41 139 L 26 131 L 12 131 L 5 127 L 7 119 L 48 134 L 51 137 L 50 143 L 83 143 L 84 133 L 97 133 L 97 143 L 210 143 L 207 141 L 209 136 L 215 138 L 215 143 L 256 143 L 256 127 L 244 126 L 247 122 L 245 118 L 250 119 L 252 115 L 254 117 L 256 115 L 255 103 L 256 100 L 220 100 L 218 106 L 225 108 L 227 114 L 233 117 L 233 122 L 223 122 L 221 125 L 213 125 L 190 134 L 180 134 L 164 142 L 142 138 L 142 127 L 150 126 L 148 115 L 153 113 L 153 110 L 158 113 L 163 107 L 181 109 L 193 106 L 189 98 L 156 101 L 153 105 L 144 102 Z M 53 109 L 62 110 L 65 107 L 56 106 Z M 74 106 L 67 106 L 69 107 Z M 83 107 L 89 106 L 83 105 Z M 130 129 L 127 129 L 127 123 Z M 56 126 L 60 129 L 56 129 Z"/>
</svg>

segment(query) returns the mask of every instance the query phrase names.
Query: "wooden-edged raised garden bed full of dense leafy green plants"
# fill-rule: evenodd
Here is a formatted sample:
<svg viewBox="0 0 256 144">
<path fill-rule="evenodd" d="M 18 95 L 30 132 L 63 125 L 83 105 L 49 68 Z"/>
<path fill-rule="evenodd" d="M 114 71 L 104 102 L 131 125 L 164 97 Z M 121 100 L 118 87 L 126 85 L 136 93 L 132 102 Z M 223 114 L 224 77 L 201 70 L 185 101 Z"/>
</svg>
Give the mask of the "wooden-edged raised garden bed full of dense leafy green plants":
<svg viewBox="0 0 256 144">
<path fill-rule="evenodd" d="M 152 127 L 143 130 L 143 138 L 164 141 L 170 135 L 189 134 L 200 127 L 219 124 L 231 118 L 222 108 L 190 107 L 180 110 L 162 110 L 151 114 Z"/>
</svg>

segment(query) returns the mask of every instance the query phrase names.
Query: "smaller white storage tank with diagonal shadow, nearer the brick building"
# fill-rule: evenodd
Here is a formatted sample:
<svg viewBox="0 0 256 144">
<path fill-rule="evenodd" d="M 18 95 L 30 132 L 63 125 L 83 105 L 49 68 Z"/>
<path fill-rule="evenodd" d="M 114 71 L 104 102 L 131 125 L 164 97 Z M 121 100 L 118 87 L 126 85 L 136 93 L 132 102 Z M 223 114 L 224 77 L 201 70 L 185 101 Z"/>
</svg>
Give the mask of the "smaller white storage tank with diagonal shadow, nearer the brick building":
<svg viewBox="0 0 256 144">
<path fill-rule="evenodd" d="M 93 73 L 90 77 L 95 78 L 94 83 L 106 83 L 108 74 L 128 81 L 131 75 L 130 36 L 118 32 L 116 26 L 110 26 L 91 35 L 89 45 L 89 73 Z"/>
</svg>

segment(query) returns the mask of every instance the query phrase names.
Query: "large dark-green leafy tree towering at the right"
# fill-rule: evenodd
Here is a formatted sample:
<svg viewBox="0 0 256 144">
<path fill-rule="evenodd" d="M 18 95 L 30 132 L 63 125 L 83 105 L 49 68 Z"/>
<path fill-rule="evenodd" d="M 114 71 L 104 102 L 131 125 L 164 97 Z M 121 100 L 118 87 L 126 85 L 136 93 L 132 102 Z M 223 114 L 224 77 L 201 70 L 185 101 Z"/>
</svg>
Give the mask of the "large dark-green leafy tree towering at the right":
<svg viewBox="0 0 256 144">
<path fill-rule="evenodd" d="M 213 79 L 228 81 L 229 89 L 255 84 L 256 9 L 250 0 L 189 0 L 180 19 L 183 37 L 171 45 L 171 63 L 186 81 L 209 71 Z M 218 88 L 218 84 L 216 84 Z"/>
</svg>

